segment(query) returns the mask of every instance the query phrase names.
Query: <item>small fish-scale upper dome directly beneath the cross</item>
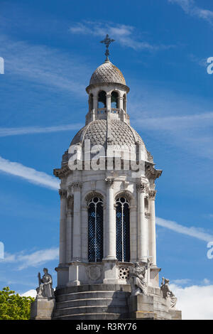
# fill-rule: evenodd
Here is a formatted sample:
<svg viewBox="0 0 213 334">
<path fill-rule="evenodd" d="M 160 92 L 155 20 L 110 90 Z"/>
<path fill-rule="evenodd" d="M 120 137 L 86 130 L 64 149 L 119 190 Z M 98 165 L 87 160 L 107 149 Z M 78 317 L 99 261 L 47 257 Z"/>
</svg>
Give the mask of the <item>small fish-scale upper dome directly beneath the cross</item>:
<svg viewBox="0 0 213 334">
<path fill-rule="evenodd" d="M 92 74 L 92 77 L 89 81 L 89 85 L 95 85 L 97 83 L 119 83 L 126 85 L 124 75 L 121 73 L 119 68 L 116 68 L 109 60 L 106 60 L 105 63 L 100 65 Z"/>
</svg>

